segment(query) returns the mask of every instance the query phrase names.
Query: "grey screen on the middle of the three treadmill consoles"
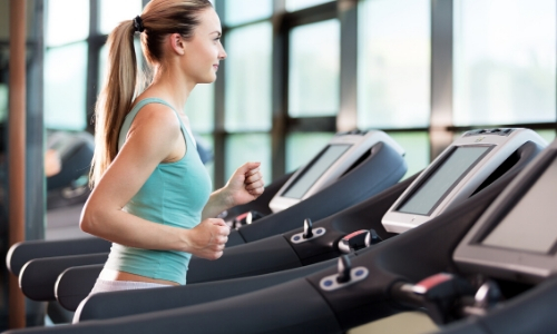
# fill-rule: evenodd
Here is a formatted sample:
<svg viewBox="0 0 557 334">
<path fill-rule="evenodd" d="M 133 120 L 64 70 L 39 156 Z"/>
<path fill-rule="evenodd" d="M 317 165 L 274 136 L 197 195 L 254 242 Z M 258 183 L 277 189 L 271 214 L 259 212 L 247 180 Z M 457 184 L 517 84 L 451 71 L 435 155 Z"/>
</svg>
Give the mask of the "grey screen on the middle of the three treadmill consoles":
<svg viewBox="0 0 557 334">
<path fill-rule="evenodd" d="M 428 215 L 455 183 L 490 148 L 491 146 L 457 147 L 398 212 Z"/>
</svg>

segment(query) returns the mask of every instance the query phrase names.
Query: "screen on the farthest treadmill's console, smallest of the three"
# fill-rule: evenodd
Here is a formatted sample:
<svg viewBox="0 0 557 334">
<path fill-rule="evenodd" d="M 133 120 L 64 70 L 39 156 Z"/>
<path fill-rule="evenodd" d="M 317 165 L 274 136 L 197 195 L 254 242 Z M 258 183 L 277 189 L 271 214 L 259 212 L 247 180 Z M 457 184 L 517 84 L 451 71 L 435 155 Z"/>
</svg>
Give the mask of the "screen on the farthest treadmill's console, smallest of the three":
<svg viewBox="0 0 557 334">
<path fill-rule="evenodd" d="M 290 185 L 282 196 L 301 199 L 331 165 L 342 156 L 351 145 L 330 145 L 323 154 Z"/>
</svg>

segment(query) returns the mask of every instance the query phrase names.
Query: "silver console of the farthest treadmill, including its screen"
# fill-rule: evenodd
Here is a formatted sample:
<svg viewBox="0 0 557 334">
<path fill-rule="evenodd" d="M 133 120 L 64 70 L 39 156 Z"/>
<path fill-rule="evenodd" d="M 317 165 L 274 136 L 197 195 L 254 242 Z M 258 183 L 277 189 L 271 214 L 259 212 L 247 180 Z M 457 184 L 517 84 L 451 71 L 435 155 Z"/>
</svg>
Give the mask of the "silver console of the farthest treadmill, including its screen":
<svg viewBox="0 0 557 334">
<path fill-rule="evenodd" d="M 402 147 L 383 131 L 354 130 L 335 135 L 315 158 L 292 175 L 268 207 L 277 213 L 312 196 L 336 181 L 379 143 L 404 155 Z"/>
</svg>

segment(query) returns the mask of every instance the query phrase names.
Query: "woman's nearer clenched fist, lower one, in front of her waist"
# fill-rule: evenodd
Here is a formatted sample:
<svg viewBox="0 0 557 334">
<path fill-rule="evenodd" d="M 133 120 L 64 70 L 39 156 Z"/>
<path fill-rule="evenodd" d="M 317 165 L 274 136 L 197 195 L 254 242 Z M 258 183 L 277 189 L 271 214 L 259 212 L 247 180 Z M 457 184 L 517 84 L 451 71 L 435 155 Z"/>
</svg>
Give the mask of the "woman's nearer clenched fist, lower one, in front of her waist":
<svg viewBox="0 0 557 334">
<path fill-rule="evenodd" d="M 231 228 L 219 218 L 208 218 L 187 232 L 187 253 L 206 259 L 217 259 L 223 255 Z"/>
</svg>

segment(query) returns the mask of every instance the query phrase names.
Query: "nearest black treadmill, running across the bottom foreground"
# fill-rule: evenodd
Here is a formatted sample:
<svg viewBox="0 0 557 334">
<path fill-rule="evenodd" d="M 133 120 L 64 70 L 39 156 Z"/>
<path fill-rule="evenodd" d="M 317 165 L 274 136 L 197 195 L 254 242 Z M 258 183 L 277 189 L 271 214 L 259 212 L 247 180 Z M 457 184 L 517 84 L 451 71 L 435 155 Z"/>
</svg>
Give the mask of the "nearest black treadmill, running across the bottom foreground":
<svg viewBox="0 0 557 334">
<path fill-rule="evenodd" d="M 548 155 L 553 156 L 547 158 Z M 551 281 L 555 265 L 541 265 L 545 266 L 544 271 L 540 267 L 524 271 L 514 264 L 507 267 L 499 266 L 496 269 L 498 274 L 489 274 L 489 271 L 485 272 L 483 268 L 490 268 L 490 265 L 472 264 L 470 267 L 465 261 L 457 259 L 459 250 L 455 252 L 455 248 L 468 243 L 468 237 L 470 240 L 478 237 L 480 232 L 488 230 L 489 235 L 491 232 L 495 233 L 498 226 L 511 224 L 505 223 L 501 218 L 515 215 L 509 209 L 515 207 L 509 205 L 509 199 L 525 198 L 524 205 L 527 205 L 529 189 L 538 189 L 536 185 L 545 184 L 548 179 L 555 184 L 557 180 L 551 176 L 548 178 L 543 176 L 547 170 L 555 170 L 556 159 L 557 141 L 536 158 L 519 177 L 515 178 L 518 170 L 512 170 L 494 181 L 489 188 L 432 218 L 428 224 L 422 224 L 372 248 L 356 250 L 352 256 L 342 256 L 338 265 L 303 278 L 216 302 L 164 312 L 7 333 L 180 333 L 185 328 L 188 333 L 343 333 L 354 326 L 398 312 L 423 307 L 440 324 L 455 322 L 453 325 L 442 330 L 447 333 L 458 333 L 450 331 L 472 326 L 473 320 L 482 317 L 488 320 L 491 314 L 504 312 L 505 303 L 498 302 L 500 296 L 508 298 L 509 303 L 517 301 L 512 305 L 516 306 L 528 299 L 521 296 L 528 297 L 537 293 L 539 297 L 538 288 L 546 292 L 548 284 L 536 285 L 535 282 L 555 282 Z M 547 163 L 548 160 L 551 164 Z M 555 188 L 551 190 L 555 191 Z M 547 196 L 547 194 L 544 195 Z M 494 202 L 498 196 L 499 198 Z M 539 194 L 531 196 L 537 197 Z M 521 205 L 521 200 L 518 200 L 516 207 Z M 486 212 L 487 208 L 489 209 Z M 555 209 L 550 210 L 555 214 Z M 553 217 L 551 222 L 555 222 L 555 218 Z M 491 226 L 494 229 L 486 229 L 486 226 Z M 531 235 L 540 237 L 545 234 L 546 232 L 538 230 Z M 506 248 L 507 245 L 494 246 L 490 242 L 480 247 L 500 247 L 521 254 L 531 253 L 525 250 L 525 247 Z M 553 258 L 554 254 L 548 253 L 540 256 Z M 505 274 L 506 271 L 515 272 L 509 276 Z M 543 272 L 546 274 L 540 275 Z M 522 275 L 526 278 L 520 278 Z M 555 298 L 546 302 L 557 303 Z M 553 308 L 547 305 L 536 308 L 536 311 L 545 310 L 547 316 L 538 316 L 536 323 L 530 324 L 529 328 L 534 328 L 531 331 L 551 328 L 550 326 L 555 324 L 551 316 Z M 472 321 L 469 316 L 472 316 Z M 467 318 L 463 323 L 459 322 L 462 317 Z M 512 323 L 524 321 L 524 317 L 506 321 L 510 324 L 499 326 L 506 331 L 500 333 L 520 331 L 519 324 L 514 326 Z M 496 325 L 489 328 L 490 332 L 480 325 L 469 330 L 471 332 L 466 333 L 499 333 Z"/>
</svg>

